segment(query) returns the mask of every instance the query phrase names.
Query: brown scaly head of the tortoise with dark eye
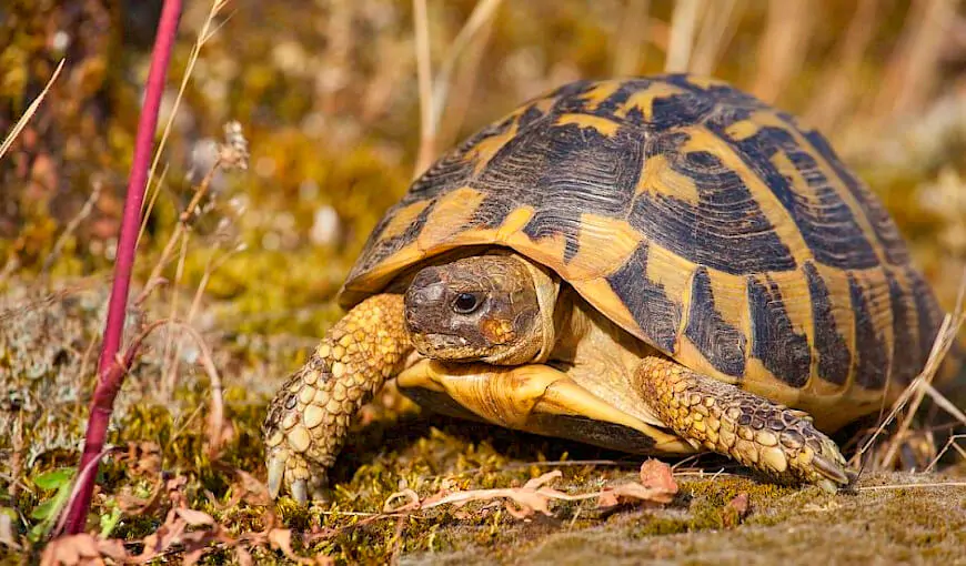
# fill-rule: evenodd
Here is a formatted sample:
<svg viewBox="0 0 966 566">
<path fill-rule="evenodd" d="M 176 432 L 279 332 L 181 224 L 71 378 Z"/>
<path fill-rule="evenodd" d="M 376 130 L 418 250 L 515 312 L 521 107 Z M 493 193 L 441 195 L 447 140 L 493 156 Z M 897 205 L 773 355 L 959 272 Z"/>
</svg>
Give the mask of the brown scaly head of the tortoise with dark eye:
<svg viewBox="0 0 966 566">
<path fill-rule="evenodd" d="M 416 273 L 405 295 L 410 338 L 434 360 L 516 365 L 554 341 L 557 284 L 512 254 L 475 255 Z"/>
</svg>

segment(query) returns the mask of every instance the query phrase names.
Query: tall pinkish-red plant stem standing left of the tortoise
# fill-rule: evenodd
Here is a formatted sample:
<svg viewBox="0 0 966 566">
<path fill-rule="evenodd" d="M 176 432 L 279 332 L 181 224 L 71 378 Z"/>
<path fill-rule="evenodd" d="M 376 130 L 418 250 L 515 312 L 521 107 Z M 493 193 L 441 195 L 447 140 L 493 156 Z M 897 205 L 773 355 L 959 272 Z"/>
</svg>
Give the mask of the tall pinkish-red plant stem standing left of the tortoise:
<svg viewBox="0 0 966 566">
<path fill-rule="evenodd" d="M 148 183 L 148 168 L 154 151 L 154 134 L 158 130 L 158 110 L 161 105 L 161 93 L 164 91 L 164 79 L 168 74 L 168 62 L 171 60 L 171 48 L 178 33 L 178 21 L 181 18 L 181 0 L 164 0 L 161 19 L 158 22 L 158 34 L 154 38 L 154 50 L 151 53 L 151 69 L 148 71 L 148 83 L 144 88 L 144 105 L 138 121 L 138 134 L 134 140 L 134 159 L 131 164 L 131 175 L 128 179 L 128 194 L 124 200 L 124 215 L 121 220 L 121 232 L 118 236 L 118 253 L 114 262 L 114 282 L 111 289 L 111 301 L 108 306 L 108 320 L 104 324 L 104 340 L 101 346 L 101 357 L 98 363 L 98 384 L 91 401 L 91 413 L 84 435 L 84 451 L 78 469 L 84 469 L 103 451 L 108 434 L 108 423 L 114 406 L 114 397 L 121 390 L 127 367 L 118 367 L 115 360 L 121 345 L 127 315 L 128 294 L 131 284 L 131 269 L 134 264 L 134 252 L 138 246 L 138 229 L 141 225 L 141 204 L 144 200 L 144 189 Z M 129 351 L 127 366 L 133 357 L 134 347 Z M 121 370 L 121 371 L 119 371 Z M 78 497 L 67 509 L 66 529 L 69 534 L 82 533 L 87 524 L 91 495 L 94 489 L 97 474 L 85 474 L 79 477 Z"/>
</svg>

